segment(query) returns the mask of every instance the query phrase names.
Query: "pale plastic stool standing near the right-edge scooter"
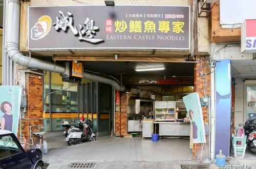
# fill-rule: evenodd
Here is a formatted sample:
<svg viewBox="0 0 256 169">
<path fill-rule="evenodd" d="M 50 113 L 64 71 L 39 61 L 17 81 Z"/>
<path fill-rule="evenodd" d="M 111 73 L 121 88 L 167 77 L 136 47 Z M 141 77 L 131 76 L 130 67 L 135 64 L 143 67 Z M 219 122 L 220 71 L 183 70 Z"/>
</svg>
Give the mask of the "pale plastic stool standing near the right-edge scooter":
<svg viewBox="0 0 256 169">
<path fill-rule="evenodd" d="M 247 136 L 245 136 L 245 135 L 243 135 L 241 137 L 232 135 L 232 143 L 233 143 L 233 150 L 234 150 L 235 158 L 244 158 L 245 150 L 246 150 L 246 138 L 247 138 Z"/>
</svg>

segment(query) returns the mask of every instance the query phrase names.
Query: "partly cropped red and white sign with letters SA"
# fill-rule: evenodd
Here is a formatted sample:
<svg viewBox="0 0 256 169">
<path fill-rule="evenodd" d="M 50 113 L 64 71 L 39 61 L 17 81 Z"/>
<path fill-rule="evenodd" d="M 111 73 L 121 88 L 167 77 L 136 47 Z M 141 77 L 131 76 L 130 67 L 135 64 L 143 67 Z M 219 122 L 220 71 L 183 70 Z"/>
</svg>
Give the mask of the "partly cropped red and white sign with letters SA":
<svg viewBox="0 0 256 169">
<path fill-rule="evenodd" d="M 256 19 L 246 19 L 241 26 L 241 53 L 256 52 Z"/>
</svg>

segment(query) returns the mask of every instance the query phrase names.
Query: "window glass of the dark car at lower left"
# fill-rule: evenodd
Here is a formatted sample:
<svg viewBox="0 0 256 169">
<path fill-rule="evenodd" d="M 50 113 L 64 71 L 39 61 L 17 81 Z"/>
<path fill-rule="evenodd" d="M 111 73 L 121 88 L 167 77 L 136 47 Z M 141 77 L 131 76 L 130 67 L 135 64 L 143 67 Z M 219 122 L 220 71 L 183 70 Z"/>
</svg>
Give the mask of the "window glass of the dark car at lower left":
<svg viewBox="0 0 256 169">
<path fill-rule="evenodd" d="M 0 137 L 0 159 L 22 152 L 11 136 Z"/>
</svg>

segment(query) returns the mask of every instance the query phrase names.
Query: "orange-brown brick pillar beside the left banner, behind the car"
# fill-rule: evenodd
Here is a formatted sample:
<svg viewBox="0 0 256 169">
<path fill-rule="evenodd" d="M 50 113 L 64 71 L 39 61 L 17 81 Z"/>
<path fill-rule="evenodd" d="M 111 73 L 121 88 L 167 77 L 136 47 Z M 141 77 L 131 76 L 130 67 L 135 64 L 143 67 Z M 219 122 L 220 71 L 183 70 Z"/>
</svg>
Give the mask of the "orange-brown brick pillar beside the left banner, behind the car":
<svg viewBox="0 0 256 169">
<path fill-rule="evenodd" d="M 35 147 L 40 142 L 40 137 L 31 135 L 33 141 L 30 139 L 30 126 L 41 125 L 43 126 L 42 118 L 42 76 L 33 73 L 26 73 L 26 97 L 27 107 L 25 118 L 22 121 L 22 134 L 27 140 L 26 149 Z M 20 127 L 20 126 L 19 126 Z M 39 131 L 37 127 L 31 128 L 33 132 Z M 18 130 L 19 131 L 19 130 Z M 42 144 L 42 142 L 41 142 Z"/>
</svg>

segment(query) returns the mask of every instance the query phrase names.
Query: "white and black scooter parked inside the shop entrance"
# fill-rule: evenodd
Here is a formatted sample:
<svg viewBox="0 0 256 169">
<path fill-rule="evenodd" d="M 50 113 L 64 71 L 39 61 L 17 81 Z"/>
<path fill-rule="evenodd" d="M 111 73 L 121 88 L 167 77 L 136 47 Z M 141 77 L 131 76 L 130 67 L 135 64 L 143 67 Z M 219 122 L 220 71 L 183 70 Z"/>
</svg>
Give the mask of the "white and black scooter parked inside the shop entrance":
<svg viewBox="0 0 256 169">
<path fill-rule="evenodd" d="M 75 145 L 82 142 L 95 141 L 96 135 L 91 128 L 92 120 L 87 119 L 82 122 L 83 130 L 71 129 L 66 137 L 68 145 Z"/>
</svg>

